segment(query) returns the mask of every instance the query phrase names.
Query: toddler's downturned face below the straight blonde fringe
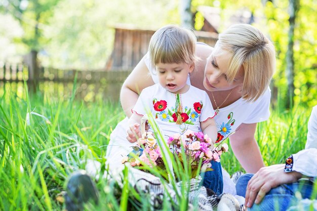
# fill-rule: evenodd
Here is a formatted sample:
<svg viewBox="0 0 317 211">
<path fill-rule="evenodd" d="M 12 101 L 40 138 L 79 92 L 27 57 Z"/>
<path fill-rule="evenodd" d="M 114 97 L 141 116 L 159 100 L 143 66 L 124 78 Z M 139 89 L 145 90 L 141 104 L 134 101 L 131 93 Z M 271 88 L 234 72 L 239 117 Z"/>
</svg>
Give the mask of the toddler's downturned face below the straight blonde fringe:
<svg viewBox="0 0 317 211">
<path fill-rule="evenodd" d="M 191 73 L 193 68 L 193 65 L 185 63 L 158 63 L 155 65 L 160 85 L 175 94 L 187 92 L 188 85 L 186 85 L 186 81 L 188 73 Z"/>
</svg>

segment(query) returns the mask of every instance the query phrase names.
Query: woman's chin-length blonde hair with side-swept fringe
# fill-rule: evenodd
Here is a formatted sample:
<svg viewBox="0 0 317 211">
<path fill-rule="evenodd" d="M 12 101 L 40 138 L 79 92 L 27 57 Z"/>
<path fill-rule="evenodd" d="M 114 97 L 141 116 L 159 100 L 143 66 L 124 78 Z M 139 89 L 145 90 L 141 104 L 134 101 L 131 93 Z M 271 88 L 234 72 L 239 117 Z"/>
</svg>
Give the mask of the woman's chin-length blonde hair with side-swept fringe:
<svg viewBox="0 0 317 211">
<path fill-rule="evenodd" d="M 267 90 L 275 70 L 275 49 L 271 41 L 249 24 L 235 24 L 219 34 L 215 48 L 232 53 L 227 71 L 232 82 L 244 68 L 242 97 L 255 101 Z"/>
</svg>

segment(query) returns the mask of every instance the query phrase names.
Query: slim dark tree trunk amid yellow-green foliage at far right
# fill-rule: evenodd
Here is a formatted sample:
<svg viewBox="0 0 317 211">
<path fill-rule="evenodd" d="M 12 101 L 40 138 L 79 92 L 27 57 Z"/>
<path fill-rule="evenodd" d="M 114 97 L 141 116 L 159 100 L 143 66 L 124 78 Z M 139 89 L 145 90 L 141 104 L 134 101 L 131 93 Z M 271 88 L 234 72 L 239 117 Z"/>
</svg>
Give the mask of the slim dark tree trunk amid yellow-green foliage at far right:
<svg viewBox="0 0 317 211">
<path fill-rule="evenodd" d="M 286 108 L 291 108 L 293 105 L 294 96 L 294 27 L 296 12 L 298 10 L 299 0 L 289 0 L 289 32 L 288 32 L 288 50 L 286 52 L 286 78 L 287 78 L 287 96 Z"/>
</svg>

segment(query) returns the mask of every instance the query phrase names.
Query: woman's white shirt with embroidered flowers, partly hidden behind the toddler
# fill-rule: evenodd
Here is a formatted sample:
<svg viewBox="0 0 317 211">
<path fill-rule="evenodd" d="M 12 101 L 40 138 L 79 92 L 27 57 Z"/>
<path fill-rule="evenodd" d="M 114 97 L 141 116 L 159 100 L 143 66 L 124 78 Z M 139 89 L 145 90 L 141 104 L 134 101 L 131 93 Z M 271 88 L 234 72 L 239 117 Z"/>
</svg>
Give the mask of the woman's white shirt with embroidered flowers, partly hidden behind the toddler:
<svg viewBox="0 0 317 211">
<path fill-rule="evenodd" d="M 150 65 L 149 53 L 145 55 L 144 62 L 149 69 L 153 81 L 158 83 L 159 80 L 155 74 L 155 70 Z M 218 131 L 217 142 L 227 138 L 242 123 L 250 124 L 267 120 L 270 115 L 270 98 L 271 91 L 268 88 L 255 102 L 247 102 L 240 98 L 231 105 L 220 108 L 219 114 L 214 117 Z"/>
</svg>

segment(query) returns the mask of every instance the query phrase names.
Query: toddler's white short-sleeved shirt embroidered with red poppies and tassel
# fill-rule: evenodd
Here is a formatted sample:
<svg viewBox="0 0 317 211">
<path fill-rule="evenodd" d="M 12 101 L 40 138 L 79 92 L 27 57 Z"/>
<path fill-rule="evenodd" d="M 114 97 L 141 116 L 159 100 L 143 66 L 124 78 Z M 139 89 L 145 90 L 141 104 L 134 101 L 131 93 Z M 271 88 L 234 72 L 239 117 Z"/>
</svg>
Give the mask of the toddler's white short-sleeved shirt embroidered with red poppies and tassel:
<svg viewBox="0 0 317 211">
<path fill-rule="evenodd" d="M 166 136 L 172 136 L 175 133 L 181 134 L 185 126 L 193 132 L 202 131 L 201 122 L 215 116 L 207 93 L 189 86 L 189 90 L 179 96 L 183 108 L 181 116 L 184 122 L 181 125 L 176 124 L 177 95 L 164 89 L 159 83 L 143 89 L 132 111 L 145 115 L 147 114 L 146 108 L 148 108 Z"/>
</svg>

